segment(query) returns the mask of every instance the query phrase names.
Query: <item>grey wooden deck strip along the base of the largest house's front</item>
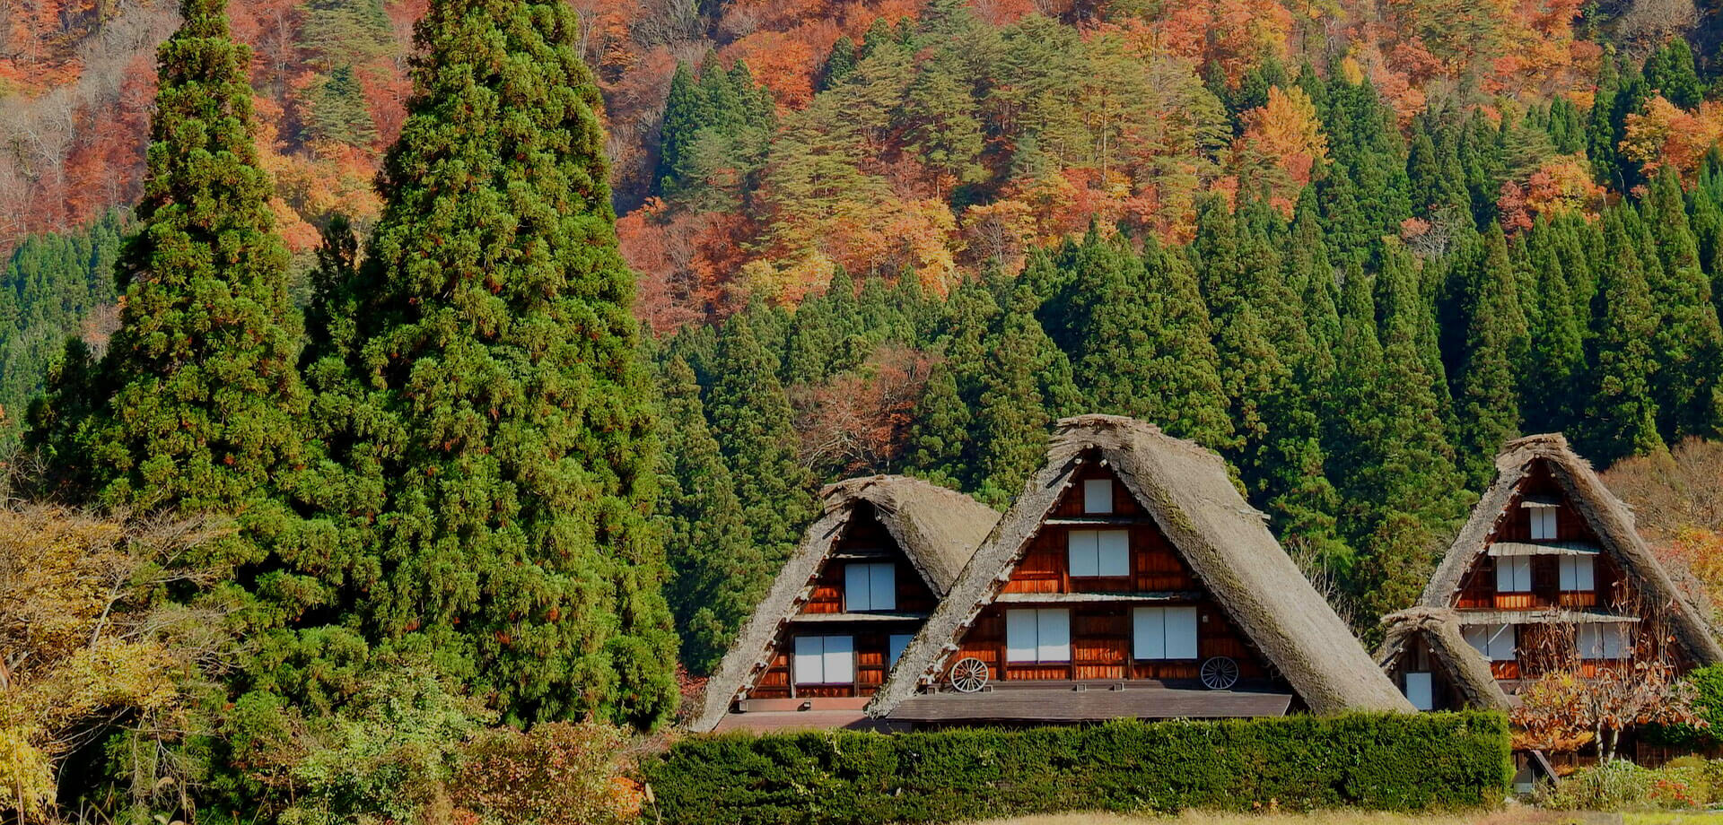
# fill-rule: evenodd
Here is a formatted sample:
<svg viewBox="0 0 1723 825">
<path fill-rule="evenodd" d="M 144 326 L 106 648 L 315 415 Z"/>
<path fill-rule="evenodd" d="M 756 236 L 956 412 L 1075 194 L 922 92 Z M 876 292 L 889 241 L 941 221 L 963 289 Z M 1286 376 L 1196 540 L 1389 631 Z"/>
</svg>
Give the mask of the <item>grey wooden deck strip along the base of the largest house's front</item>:
<svg viewBox="0 0 1723 825">
<path fill-rule="evenodd" d="M 999 687 L 975 694 L 911 696 L 889 722 L 1103 722 L 1110 718 L 1247 718 L 1284 716 L 1292 694 L 1272 687 L 1206 691 L 1125 684 L 1085 691 L 1060 687 Z"/>
</svg>

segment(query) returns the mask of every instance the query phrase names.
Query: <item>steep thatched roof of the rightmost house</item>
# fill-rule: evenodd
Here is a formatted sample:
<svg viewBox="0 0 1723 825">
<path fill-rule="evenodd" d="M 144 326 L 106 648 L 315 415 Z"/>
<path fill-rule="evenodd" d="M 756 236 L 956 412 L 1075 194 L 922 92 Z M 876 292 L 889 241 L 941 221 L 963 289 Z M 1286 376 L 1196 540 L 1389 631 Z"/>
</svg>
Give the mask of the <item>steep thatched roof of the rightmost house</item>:
<svg viewBox="0 0 1723 825">
<path fill-rule="evenodd" d="M 1423 589 L 1421 606 L 1446 608 L 1459 591 L 1466 570 L 1471 570 L 1478 553 L 1489 549 L 1490 534 L 1501 524 L 1511 505 L 1516 501 L 1520 482 L 1532 472 L 1535 462 L 1546 462 L 1549 474 L 1568 494 L 1568 503 L 1585 517 L 1585 522 L 1597 534 L 1602 551 L 1621 565 L 1621 570 L 1633 577 L 1639 589 L 1670 618 L 1676 641 L 1695 665 L 1716 665 L 1723 661 L 1723 648 L 1699 618 L 1699 611 L 1682 596 L 1682 591 L 1670 580 L 1658 558 L 1645 548 L 1639 530 L 1633 527 L 1633 513 L 1604 487 L 1592 465 L 1573 453 L 1568 439 L 1559 432 L 1527 436 L 1509 441 L 1496 456 L 1496 482 L 1484 493 L 1484 498 L 1471 508 L 1471 520 L 1459 530 L 1454 546 L 1447 549 L 1435 577 Z"/>
</svg>

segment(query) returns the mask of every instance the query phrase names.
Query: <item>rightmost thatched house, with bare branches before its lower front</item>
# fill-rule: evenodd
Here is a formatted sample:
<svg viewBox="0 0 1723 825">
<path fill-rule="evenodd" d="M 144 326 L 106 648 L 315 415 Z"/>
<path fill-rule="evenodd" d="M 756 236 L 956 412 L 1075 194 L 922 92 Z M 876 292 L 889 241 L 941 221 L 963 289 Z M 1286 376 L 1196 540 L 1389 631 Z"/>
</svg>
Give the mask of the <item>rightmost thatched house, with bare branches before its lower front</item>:
<svg viewBox="0 0 1723 825">
<path fill-rule="evenodd" d="M 1452 608 L 1504 682 L 1533 675 L 1521 663 L 1537 670 L 1528 651 L 1551 648 L 1554 629 L 1578 639 L 1577 658 L 1587 663 L 1628 660 L 1635 648 L 1682 668 L 1723 661 L 1699 611 L 1640 539 L 1633 513 L 1561 434 L 1504 444 L 1494 484 L 1420 606 Z M 1633 629 L 1652 625 L 1658 632 L 1633 641 Z M 1675 639 L 1673 649 L 1661 649 L 1664 637 Z"/>
</svg>

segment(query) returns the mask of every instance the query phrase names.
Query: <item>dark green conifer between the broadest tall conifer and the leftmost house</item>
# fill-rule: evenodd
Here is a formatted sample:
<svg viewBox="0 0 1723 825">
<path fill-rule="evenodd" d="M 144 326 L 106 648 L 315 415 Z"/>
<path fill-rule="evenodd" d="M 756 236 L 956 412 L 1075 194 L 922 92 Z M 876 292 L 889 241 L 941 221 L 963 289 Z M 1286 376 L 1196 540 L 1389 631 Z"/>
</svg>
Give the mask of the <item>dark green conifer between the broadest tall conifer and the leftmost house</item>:
<svg viewBox="0 0 1723 825">
<path fill-rule="evenodd" d="M 682 636 L 682 663 L 706 675 L 770 586 L 772 570 L 748 532 L 736 481 L 706 427 L 694 370 L 672 357 L 662 382 L 665 598 Z"/>
</svg>

